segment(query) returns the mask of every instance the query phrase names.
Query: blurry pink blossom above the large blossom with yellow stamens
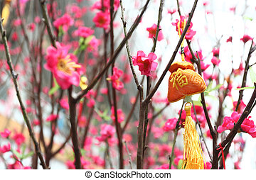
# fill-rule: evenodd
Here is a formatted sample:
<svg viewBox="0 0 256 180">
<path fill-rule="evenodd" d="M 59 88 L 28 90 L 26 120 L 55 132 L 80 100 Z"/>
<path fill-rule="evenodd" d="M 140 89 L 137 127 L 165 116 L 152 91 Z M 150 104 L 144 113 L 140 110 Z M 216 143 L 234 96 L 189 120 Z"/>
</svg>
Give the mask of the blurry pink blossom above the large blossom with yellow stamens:
<svg viewBox="0 0 256 180">
<path fill-rule="evenodd" d="M 60 29 L 60 26 L 61 26 L 64 32 L 67 32 L 68 28 L 70 26 L 73 26 L 73 24 L 74 24 L 74 20 L 73 18 L 70 17 L 68 13 L 65 13 L 63 16 L 61 16 L 60 18 L 56 19 L 53 22 L 53 26 L 55 28 Z"/>
</svg>

